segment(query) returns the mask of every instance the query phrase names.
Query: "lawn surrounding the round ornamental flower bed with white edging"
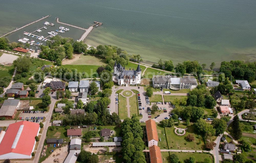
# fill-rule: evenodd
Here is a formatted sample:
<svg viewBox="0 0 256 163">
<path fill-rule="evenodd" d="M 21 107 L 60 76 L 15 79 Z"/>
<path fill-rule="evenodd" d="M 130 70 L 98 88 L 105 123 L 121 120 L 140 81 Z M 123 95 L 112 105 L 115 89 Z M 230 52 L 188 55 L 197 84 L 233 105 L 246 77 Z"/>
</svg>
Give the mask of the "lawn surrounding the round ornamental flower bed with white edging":
<svg viewBox="0 0 256 163">
<path fill-rule="evenodd" d="M 184 125 L 180 125 L 178 127 L 185 128 Z M 168 145 L 169 149 L 182 149 L 182 150 L 204 150 L 205 145 L 204 141 L 202 139 L 202 136 L 197 134 L 194 130 L 194 127 L 192 123 L 190 123 L 190 126 L 187 126 L 186 134 L 184 136 L 178 136 L 174 133 L 174 126 L 173 127 L 166 127 L 166 137 L 168 139 Z M 193 134 L 195 137 L 195 140 L 193 142 L 189 142 L 186 140 L 186 136 L 188 134 Z"/>
</svg>

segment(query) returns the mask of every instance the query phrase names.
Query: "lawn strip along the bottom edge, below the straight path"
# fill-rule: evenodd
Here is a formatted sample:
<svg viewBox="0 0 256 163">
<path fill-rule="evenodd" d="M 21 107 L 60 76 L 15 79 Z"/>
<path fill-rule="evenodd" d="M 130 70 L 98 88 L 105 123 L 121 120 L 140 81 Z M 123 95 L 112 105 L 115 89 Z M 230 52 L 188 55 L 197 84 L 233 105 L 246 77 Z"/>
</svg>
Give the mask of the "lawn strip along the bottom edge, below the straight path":
<svg viewBox="0 0 256 163">
<path fill-rule="evenodd" d="M 205 158 L 209 158 L 210 162 L 213 161 L 213 158 L 210 154 L 207 153 L 192 153 L 192 152 L 170 152 L 170 154 L 176 154 L 181 162 L 188 162 L 189 157 L 194 156 L 195 162 L 204 162 Z M 161 152 L 163 163 L 169 163 L 169 152 Z"/>
</svg>

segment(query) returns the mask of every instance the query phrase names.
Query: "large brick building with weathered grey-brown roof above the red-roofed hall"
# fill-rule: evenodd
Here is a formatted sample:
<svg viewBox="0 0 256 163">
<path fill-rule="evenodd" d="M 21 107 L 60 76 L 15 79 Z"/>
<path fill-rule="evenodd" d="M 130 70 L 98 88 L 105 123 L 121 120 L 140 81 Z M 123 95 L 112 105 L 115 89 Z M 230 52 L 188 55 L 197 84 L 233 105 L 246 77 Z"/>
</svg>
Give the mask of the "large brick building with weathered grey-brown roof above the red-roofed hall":
<svg viewBox="0 0 256 163">
<path fill-rule="evenodd" d="M 6 99 L 0 109 L 0 117 L 13 119 L 19 106 L 20 106 L 19 99 L 13 99 L 13 98 Z"/>
</svg>

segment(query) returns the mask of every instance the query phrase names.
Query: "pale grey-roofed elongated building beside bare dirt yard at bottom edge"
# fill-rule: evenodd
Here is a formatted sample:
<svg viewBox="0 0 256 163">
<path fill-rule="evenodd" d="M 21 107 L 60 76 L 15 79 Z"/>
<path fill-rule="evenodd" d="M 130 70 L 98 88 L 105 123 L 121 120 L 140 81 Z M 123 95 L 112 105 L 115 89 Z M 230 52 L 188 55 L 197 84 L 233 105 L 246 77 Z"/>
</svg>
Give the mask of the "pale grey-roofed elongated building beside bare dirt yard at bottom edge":
<svg viewBox="0 0 256 163">
<path fill-rule="evenodd" d="M 63 163 L 75 163 L 77 161 L 77 157 L 81 152 L 81 144 L 81 139 L 71 139 L 69 146 L 69 154 Z"/>
</svg>

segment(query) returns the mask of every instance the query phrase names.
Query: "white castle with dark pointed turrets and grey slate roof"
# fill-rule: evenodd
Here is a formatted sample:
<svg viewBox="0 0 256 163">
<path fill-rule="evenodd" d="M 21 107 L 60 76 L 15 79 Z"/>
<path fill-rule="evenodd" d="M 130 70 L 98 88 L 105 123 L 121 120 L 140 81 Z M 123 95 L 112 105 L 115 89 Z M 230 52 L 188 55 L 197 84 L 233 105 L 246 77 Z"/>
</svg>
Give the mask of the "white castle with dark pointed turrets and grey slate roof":
<svg viewBox="0 0 256 163">
<path fill-rule="evenodd" d="M 125 70 L 125 67 L 122 67 L 121 64 L 114 65 L 114 77 L 113 81 L 118 83 L 118 85 L 136 85 L 141 83 L 141 68 L 138 65 L 137 69 L 134 70 L 131 68 Z"/>
</svg>

